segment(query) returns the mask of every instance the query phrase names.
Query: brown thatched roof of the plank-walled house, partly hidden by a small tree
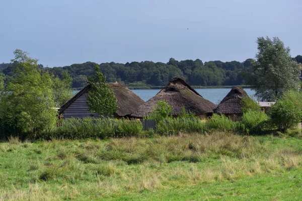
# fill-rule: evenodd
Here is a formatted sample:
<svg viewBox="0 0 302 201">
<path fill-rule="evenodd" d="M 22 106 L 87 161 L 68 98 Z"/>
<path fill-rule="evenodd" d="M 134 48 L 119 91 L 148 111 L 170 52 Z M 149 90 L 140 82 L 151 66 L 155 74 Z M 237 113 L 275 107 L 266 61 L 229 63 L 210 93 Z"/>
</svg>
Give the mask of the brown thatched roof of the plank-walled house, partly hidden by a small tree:
<svg viewBox="0 0 302 201">
<path fill-rule="evenodd" d="M 116 111 L 118 116 L 126 116 L 131 114 L 138 106 L 144 103 L 144 101 L 135 93 L 130 91 L 125 85 L 119 83 L 109 83 L 109 88 L 113 90 L 117 99 L 119 109 Z M 67 101 L 60 109 L 59 113 L 62 114 L 64 110 L 77 98 L 88 92 L 90 86 L 87 85 L 80 92 L 75 94 L 69 101 Z"/>
</svg>

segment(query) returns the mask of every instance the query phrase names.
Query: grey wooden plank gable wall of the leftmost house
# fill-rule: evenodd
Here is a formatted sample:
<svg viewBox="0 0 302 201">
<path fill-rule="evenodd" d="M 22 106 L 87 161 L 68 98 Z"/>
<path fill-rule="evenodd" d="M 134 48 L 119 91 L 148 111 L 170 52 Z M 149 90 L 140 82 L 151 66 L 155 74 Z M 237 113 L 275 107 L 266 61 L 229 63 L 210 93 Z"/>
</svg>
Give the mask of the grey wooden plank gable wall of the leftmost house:
<svg viewBox="0 0 302 201">
<path fill-rule="evenodd" d="M 84 93 L 82 96 L 77 98 L 77 100 L 71 103 L 69 107 L 67 107 L 64 110 L 63 118 L 70 118 L 70 117 L 83 118 L 83 117 L 91 116 L 91 114 L 93 114 L 95 117 L 99 117 L 96 113 L 92 113 L 88 111 L 88 106 L 86 104 L 87 102 L 86 96 L 87 93 Z"/>
</svg>

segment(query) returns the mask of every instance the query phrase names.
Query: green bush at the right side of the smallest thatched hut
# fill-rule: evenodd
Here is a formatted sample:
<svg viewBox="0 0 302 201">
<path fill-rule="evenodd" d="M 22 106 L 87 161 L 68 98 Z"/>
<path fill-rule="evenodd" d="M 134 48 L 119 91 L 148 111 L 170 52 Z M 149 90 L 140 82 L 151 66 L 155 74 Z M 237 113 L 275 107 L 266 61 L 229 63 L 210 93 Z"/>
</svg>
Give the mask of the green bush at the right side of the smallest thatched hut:
<svg viewBox="0 0 302 201">
<path fill-rule="evenodd" d="M 241 118 L 241 127 L 247 134 L 260 133 L 263 129 L 263 122 L 268 120 L 268 116 L 259 109 L 247 110 Z"/>
</svg>

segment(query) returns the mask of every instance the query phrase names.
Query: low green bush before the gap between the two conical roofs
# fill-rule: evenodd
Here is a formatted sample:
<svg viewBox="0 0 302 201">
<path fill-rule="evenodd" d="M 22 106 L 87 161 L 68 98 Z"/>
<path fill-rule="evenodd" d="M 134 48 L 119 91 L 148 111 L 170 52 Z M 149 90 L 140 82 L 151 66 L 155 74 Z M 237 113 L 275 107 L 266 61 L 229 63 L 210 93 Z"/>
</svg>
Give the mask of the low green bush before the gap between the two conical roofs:
<svg viewBox="0 0 302 201">
<path fill-rule="evenodd" d="M 207 131 L 230 131 L 236 132 L 238 128 L 238 122 L 232 121 L 230 118 L 220 115 L 213 114 L 206 122 L 205 127 Z"/>
</svg>

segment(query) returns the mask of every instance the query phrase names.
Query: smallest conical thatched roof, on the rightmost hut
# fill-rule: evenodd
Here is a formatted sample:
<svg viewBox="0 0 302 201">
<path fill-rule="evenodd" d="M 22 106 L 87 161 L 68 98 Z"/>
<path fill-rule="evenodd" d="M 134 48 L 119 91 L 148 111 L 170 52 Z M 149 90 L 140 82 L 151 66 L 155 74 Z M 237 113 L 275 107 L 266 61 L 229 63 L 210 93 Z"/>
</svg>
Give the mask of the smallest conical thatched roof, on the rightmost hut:
<svg viewBox="0 0 302 201">
<path fill-rule="evenodd" d="M 214 109 L 214 113 L 218 114 L 239 114 L 241 112 L 241 99 L 248 96 L 242 87 L 234 87 L 228 95 Z"/>
</svg>

